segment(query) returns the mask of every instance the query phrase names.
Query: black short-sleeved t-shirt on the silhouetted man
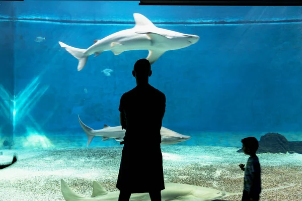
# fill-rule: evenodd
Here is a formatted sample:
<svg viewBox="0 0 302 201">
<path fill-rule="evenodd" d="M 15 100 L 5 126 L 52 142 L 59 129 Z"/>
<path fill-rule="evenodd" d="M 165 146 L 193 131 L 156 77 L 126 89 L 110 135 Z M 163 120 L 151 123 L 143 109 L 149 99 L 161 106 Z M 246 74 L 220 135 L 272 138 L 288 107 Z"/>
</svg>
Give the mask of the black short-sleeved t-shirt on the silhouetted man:
<svg viewBox="0 0 302 201">
<path fill-rule="evenodd" d="M 151 85 L 136 86 L 124 93 L 119 111 L 126 117 L 125 143 L 161 143 L 166 96 Z"/>
</svg>

